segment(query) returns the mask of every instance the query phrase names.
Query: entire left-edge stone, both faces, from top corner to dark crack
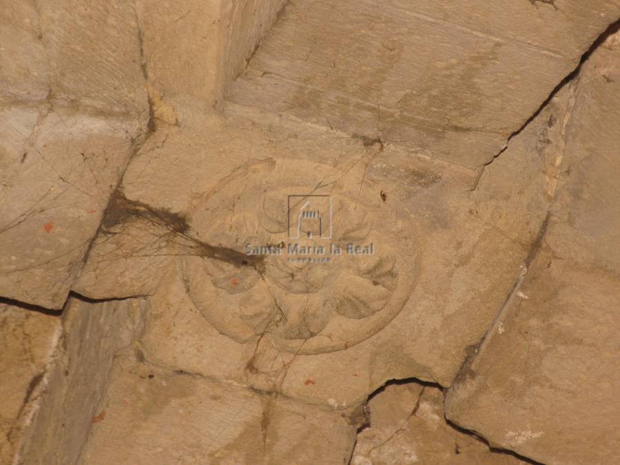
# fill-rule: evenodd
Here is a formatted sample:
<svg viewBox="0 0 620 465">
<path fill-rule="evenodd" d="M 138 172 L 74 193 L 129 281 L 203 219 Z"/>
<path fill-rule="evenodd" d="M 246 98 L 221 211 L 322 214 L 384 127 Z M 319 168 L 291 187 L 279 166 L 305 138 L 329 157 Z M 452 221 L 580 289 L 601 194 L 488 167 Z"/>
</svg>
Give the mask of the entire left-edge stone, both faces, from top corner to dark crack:
<svg viewBox="0 0 620 465">
<path fill-rule="evenodd" d="M 138 29 L 123 2 L 13 3 L 0 28 L 0 296 L 60 309 L 146 129 Z"/>
</svg>

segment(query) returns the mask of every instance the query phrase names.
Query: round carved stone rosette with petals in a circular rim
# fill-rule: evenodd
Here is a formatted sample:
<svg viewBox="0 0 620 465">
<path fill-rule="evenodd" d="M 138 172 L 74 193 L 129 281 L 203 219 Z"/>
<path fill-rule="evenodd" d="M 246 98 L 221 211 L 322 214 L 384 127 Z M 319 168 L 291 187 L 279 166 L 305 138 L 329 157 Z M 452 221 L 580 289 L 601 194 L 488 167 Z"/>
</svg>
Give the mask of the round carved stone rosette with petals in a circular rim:
<svg viewBox="0 0 620 465">
<path fill-rule="evenodd" d="M 291 353 L 347 349 L 383 329 L 415 285 L 417 238 L 402 204 L 363 182 L 265 160 L 200 196 L 192 231 L 217 252 L 183 258 L 183 280 L 203 316 L 237 342 L 265 335 Z M 290 238 L 291 195 L 329 196 L 330 237 Z"/>
</svg>

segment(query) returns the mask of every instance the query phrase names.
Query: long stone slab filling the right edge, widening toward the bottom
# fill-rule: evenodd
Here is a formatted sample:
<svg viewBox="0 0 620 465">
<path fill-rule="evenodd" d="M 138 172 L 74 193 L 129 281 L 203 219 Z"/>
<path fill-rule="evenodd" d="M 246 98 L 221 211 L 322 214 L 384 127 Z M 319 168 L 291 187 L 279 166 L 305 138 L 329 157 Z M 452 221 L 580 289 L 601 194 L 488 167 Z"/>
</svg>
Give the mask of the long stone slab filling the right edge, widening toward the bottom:
<svg viewBox="0 0 620 465">
<path fill-rule="evenodd" d="M 544 463 L 613 463 L 620 444 L 619 57 L 616 34 L 571 85 L 536 258 L 446 405 L 457 424 Z"/>
</svg>

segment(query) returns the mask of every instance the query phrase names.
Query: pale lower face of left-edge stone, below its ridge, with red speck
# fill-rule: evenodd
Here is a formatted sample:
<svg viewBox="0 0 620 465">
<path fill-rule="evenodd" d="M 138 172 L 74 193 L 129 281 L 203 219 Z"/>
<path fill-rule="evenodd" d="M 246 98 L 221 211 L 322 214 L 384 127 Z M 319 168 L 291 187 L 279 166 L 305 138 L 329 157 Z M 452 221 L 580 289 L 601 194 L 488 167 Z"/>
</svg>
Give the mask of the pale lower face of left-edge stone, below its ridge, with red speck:
<svg viewBox="0 0 620 465">
<path fill-rule="evenodd" d="M 0 295 L 59 309 L 138 125 L 50 107 L 11 107 L 0 118 Z"/>
</svg>

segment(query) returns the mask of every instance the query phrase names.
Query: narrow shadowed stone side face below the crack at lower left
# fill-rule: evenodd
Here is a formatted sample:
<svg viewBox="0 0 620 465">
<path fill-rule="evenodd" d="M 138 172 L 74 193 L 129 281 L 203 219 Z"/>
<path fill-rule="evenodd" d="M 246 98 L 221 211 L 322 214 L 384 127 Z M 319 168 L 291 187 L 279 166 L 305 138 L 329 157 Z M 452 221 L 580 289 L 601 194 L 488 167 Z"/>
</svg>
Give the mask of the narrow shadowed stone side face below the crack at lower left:
<svg viewBox="0 0 620 465">
<path fill-rule="evenodd" d="M 147 302 L 85 302 L 70 298 L 63 311 L 53 363 L 16 464 L 76 464 L 97 406 L 110 382 L 116 353 L 130 347 L 142 328 Z"/>
</svg>

